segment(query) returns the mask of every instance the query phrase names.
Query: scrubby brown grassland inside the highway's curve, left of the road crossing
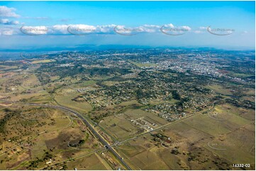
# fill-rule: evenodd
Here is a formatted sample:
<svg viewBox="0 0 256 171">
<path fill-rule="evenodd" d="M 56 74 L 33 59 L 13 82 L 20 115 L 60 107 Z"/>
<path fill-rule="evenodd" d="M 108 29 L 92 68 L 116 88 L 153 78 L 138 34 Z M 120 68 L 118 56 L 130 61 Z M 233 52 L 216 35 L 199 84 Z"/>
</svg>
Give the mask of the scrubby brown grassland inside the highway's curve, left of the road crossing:
<svg viewBox="0 0 256 171">
<path fill-rule="evenodd" d="M 4 108 L 0 116 L 1 170 L 41 169 L 102 148 L 68 112 L 23 106 Z"/>
</svg>

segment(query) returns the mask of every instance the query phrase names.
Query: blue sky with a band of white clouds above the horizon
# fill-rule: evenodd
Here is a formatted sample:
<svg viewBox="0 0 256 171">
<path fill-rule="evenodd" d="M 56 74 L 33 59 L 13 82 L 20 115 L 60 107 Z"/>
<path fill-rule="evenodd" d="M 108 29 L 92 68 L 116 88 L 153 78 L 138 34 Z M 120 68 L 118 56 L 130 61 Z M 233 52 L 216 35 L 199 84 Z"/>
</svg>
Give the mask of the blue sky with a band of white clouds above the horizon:
<svg viewBox="0 0 256 171">
<path fill-rule="evenodd" d="M 165 34 L 163 26 L 164 32 L 176 31 Z M 119 34 L 124 28 L 135 34 Z M 255 47 L 255 2 L 0 1 L 0 39 L 1 49 L 84 44 L 248 49 Z"/>
</svg>

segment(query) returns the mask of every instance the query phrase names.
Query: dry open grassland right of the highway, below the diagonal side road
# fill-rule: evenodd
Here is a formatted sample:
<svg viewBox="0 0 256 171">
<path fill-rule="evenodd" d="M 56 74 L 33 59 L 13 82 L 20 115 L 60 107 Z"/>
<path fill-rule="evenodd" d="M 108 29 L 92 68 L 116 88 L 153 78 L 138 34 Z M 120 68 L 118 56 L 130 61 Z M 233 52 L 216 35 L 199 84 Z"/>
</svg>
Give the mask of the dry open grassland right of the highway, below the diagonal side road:
<svg viewBox="0 0 256 171">
<path fill-rule="evenodd" d="M 204 114 L 126 141 L 116 150 L 136 170 L 238 170 L 233 163 L 249 163 L 245 169 L 254 170 L 254 121 L 254 110 L 216 105 Z"/>
</svg>

